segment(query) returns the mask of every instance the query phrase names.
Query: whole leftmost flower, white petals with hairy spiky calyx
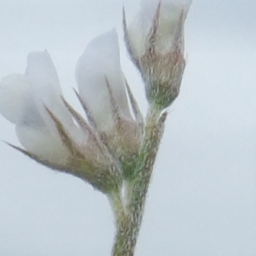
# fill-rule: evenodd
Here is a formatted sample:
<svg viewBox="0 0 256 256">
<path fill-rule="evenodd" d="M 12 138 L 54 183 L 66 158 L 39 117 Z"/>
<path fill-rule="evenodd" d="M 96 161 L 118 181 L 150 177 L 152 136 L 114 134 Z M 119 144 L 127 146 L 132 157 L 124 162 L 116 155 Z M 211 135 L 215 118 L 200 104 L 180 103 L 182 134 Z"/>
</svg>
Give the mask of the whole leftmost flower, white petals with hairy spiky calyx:
<svg viewBox="0 0 256 256">
<path fill-rule="evenodd" d="M 117 188 L 120 173 L 115 160 L 63 99 L 47 51 L 28 55 L 25 75 L 2 79 L 0 113 L 15 124 L 26 149 L 12 147 L 45 166 L 81 177 L 102 192 Z"/>
</svg>

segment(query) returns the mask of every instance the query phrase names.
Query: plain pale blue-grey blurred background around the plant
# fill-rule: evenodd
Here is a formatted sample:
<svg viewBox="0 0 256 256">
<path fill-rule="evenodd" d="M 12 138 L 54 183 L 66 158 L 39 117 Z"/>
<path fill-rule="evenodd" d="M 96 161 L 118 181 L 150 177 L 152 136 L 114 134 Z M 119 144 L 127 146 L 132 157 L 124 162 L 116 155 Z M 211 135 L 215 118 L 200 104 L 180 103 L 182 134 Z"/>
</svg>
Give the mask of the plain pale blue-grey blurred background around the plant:
<svg viewBox="0 0 256 256">
<path fill-rule="evenodd" d="M 139 1 L 0 0 L 0 78 L 24 73 L 48 49 L 69 102 L 80 109 L 74 68 L 85 46 L 113 26 L 122 67 L 143 113 L 143 83 L 123 44 L 122 6 Z M 256 255 L 256 2 L 194 0 L 187 67 L 169 110 L 136 255 Z M 0 116 L 0 139 L 19 145 Z M 106 196 L 0 143 L 0 254 L 110 255 Z"/>
</svg>

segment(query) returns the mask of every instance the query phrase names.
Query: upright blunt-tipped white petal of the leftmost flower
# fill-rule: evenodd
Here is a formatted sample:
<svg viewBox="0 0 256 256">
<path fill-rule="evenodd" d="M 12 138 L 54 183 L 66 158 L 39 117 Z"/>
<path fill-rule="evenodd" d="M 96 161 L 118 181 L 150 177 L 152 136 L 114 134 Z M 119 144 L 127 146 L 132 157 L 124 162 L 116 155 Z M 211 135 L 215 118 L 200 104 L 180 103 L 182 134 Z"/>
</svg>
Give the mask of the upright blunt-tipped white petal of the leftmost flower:
<svg viewBox="0 0 256 256">
<path fill-rule="evenodd" d="M 27 56 L 26 79 L 30 83 L 32 99 L 44 123 L 53 133 L 57 132 L 55 124 L 45 107 L 55 114 L 70 133 L 76 134 L 71 114 L 61 101 L 61 86 L 55 66 L 49 53 L 44 51 L 32 52 Z"/>
</svg>

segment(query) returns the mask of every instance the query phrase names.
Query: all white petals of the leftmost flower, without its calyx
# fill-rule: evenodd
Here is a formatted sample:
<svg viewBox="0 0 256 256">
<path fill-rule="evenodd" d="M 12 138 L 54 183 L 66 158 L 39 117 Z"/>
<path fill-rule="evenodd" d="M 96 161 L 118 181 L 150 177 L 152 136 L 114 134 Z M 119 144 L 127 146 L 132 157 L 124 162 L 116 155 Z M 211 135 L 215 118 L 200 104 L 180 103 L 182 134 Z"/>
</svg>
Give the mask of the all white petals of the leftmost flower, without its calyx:
<svg viewBox="0 0 256 256">
<path fill-rule="evenodd" d="M 0 112 L 15 123 L 17 137 L 29 152 L 65 165 L 67 148 L 44 107 L 51 109 L 67 126 L 72 125 L 71 114 L 60 96 L 59 80 L 48 52 L 33 52 L 27 57 L 25 75 L 11 74 L 3 78 Z"/>
</svg>

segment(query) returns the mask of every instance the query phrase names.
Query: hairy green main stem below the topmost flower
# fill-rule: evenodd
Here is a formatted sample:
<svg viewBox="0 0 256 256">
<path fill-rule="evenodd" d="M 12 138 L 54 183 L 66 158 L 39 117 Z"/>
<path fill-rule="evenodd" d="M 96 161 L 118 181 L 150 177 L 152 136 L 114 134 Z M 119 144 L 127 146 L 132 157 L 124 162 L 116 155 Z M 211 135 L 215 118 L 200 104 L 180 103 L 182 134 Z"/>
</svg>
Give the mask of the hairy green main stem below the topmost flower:
<svg viewBox="0 0 256 256">
<path fill-rule="evenodd" d="M 117 217 L 117 231 L 113 245 L 113 256 L 133 256 L 137 236 L 143 220 L 144 205 L 153 172 L 154 161 L 164 131 L 166 113 L 150 109 L 146 119 L 143 145 L 128 182 L 128 198 L 123 207 L 113 207 Z M 120 200 L 122 201 L 122 200 Z M 116 202 L 120 205 L 120 202 Z M 113 204 L 115 204 L 113 202 Z M 121 209 L 122 208 L 122 209 Z"/>
</svg>

